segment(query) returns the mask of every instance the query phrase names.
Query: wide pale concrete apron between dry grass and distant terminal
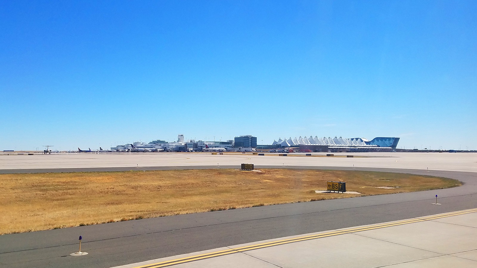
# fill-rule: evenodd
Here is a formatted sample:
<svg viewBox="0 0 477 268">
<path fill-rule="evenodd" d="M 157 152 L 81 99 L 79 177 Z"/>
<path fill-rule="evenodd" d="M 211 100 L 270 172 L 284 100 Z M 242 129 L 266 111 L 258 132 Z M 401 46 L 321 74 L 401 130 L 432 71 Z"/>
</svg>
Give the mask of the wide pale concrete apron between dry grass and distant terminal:
<svg viewBox="0 0 477 268">
<path fill-rule="evenodd" d="M 110 168 L 151 166 L 240 166 L 242 163 L 270 166 L 340 166 L 431 169 L 477 172 L 475 153 L 346 153 L 356 157 L 270 156 L 210 153 L 83 153 L 52 155 L 0 155 L 0 170 Z M 313 155 L 325 155 L 315 153 Z M 366 156 L 366 157 L 358 157 Z"/>
</svg>

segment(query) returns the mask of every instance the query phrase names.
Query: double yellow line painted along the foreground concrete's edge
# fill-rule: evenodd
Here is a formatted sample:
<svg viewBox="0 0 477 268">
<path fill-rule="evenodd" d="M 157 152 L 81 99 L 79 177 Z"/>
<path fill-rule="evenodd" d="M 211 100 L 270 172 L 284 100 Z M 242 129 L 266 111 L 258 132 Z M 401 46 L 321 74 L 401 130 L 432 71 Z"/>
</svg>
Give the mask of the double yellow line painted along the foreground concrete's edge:
<svg viewBox="0 0 477 268">
<path fill-rule="evenodd" d="M 245 247 L 229 248 L 229 249 L 224 249 L 224 250 L 215 251 L 215 252 L 206 253 L 206 254 L 200 254 L 200 255 L 191 256 L 191 257 L 177 258 L 177 259 L 173 259 L 173 260 L 168 260 L 168 261 L 163 261 L 163 262 L 138 266 L 138 267 L 135 267 L 135 268 L 162 268 L 162 267 L 173 266 L 173 265 L 176 265 L 176 264 L 187 263 L 187 262 L 197 261 L 197 260 L 206 259 L 206 258 L 214 258 L 214 257 L 219 257 L 219 256 L 224 256 L 224 255 L 234 254 L 234 253 L 238 253 L 238 252 L 244 252 L 244 251 L 264 248 L 264 247 L 273 247 L 273 246 L 289 244 L 289 243 L 294 243 L 294 242 L 300 242 L 300 241 L 306 241 L 306 240 L 311 240 L 311 239 L 317 239 L 317 238 L 322 238 L 322 237 L 332 237 L 332 236 L 338 236 L 338 235 L 343 235 L 343 234 L 350 234 L 350 233 L 368 231 L 368 230 L 373 230 L 373 229 L 380 229 L 380 228 L 385 228 L 385 227 L 392 227 L 392 226 L 398 226 L 398 225 L 403 225 L 403 224 L 416 223 L 416 222 L 421 222 L 421 221 L 426 221 L 426 220 L 435 220 L 435 219 L 457 216 L 457 215 L 462 215 L 462 214 L 468 214 L 468 213 L 473 213 L 473 212 L 477 212 L 477 208 L 461 210 L 461 211 L 456 211 L 456 212 L 450 212 L 450 213 L 445 213 L 445 214 L 439 214 L 439 215 L 434 215 L 434 216 L 413 218 L 413 219 L 409 219 L 409 220 L 402 220 L 402 221 L 397 221 L 397 222 L 392 222 L 392 223 L 384 223 L 384 224 L 365 226 L 365 227 L 348 228 L 348 229 L 336 230 L 336 231 L 331 231 L 331 232 L 326 232 L 326 233 L 321 233 L 321 234 L 295 237 L 295 238 L 288 238 L 288 239 L 266 242 L 266 243 L 261 243 L 261 244 L 256 244 L 256 245 L 245 246 Z"/>
</svg>

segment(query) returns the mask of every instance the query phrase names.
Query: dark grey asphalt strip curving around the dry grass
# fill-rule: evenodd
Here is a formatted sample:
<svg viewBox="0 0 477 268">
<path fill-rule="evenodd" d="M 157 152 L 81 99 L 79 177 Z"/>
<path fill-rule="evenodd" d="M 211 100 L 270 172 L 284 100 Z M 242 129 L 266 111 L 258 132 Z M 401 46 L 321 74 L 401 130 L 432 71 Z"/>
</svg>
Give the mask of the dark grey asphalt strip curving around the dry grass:
<svg viewBox="0 0 477 268">
<path fill-rule="evenodd" d="M 277 166 L 257 166 L 257 168 L 266 167 Z M 178 168 L 192 167 L 141 167 L 138 170 Z M 211 166 L 193 168 L 211 168 Z M 424 192 L 260 206 L 3 235 L 0 236 L 0 267 L 113 267 L 277 237 L 477 207 L 477 173 L 316 166 L 286 166 L 286 168 L 352 169 L 436 175 L 458 179 L 465 184 L 450 189 Z M 124 169 L 62 169 L 62 172 L 119 170 Z M 19 171 L 25 170 L 16 170 L 16 173 Z M 52 172 L 52 170 L 41 169 L 30 172 Z M 438 200 L 442 206 L 430 205 L 435 202 L 435 195 L 439 196 Z M 69 254 L 78 250 L 77 239 L 80 235 L 83 236 L 82 250 L 89 254 L 71 257 Z"/>
</svg>

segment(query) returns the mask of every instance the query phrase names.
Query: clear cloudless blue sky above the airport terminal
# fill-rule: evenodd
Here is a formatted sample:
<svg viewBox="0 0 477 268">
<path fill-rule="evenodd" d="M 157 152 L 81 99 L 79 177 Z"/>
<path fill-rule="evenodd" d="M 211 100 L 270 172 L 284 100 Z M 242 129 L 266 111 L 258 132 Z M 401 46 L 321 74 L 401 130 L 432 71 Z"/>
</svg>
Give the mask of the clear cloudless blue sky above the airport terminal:
<svg viewBox="0 0 477 268">
<path fill-rule="evenodd" d="M 477 149 L 476 14 L 475 0 L 0 0 L 0 149 L 177 134 Z"/>
</svg>

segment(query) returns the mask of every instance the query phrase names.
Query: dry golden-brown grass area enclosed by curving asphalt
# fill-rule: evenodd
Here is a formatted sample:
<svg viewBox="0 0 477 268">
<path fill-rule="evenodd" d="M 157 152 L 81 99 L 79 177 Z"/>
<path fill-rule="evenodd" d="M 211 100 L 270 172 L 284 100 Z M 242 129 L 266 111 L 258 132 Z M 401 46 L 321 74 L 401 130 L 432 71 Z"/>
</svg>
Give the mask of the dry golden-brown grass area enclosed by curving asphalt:
<svg viewBox="0 0 477 268">
<path fill-rule="evenodd" d="M 315 193 L 326 181 L 344 181 L 362 195 Z M 0 234 L 460 185 L 421 175 L 299 169 L 4 174 Z"/>
</svg>

